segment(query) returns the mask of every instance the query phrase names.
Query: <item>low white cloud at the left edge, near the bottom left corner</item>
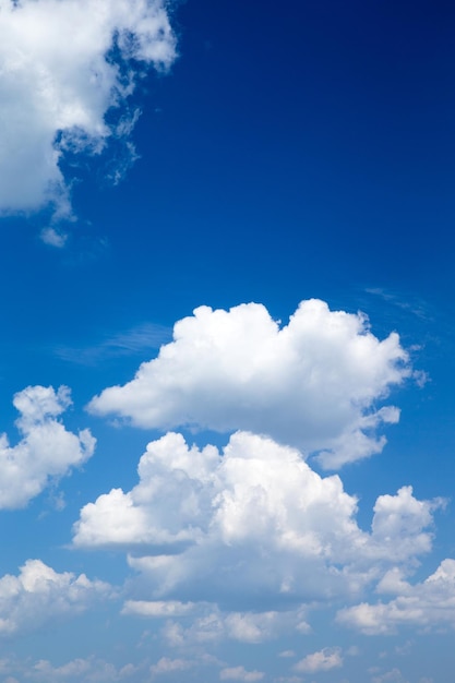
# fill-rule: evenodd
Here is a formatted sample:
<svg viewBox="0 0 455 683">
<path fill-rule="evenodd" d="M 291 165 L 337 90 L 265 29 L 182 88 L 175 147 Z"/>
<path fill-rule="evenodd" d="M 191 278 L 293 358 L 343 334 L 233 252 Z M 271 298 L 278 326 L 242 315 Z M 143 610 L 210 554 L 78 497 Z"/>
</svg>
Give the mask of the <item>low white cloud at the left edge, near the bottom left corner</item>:
<svg viewBox="0 0 455 683">
<path fill-rule="evenodd" d="M 79 614 L 110 587 L 89 580 L 85 574 L 59 574 L 40 560 L 27 560 L 19 576 L 0 578 L 0 635 L 39 628 L 45 621 Z"/>
</svg>

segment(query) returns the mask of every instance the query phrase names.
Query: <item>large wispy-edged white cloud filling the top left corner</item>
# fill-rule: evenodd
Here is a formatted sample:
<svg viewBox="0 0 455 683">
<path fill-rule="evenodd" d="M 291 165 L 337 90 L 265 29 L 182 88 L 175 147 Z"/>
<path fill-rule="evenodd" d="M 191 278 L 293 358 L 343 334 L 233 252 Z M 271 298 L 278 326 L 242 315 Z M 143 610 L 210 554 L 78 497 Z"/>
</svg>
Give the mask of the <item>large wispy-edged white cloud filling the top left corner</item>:
<svg viewBox="0 0 455 683">
<path fill-rule="evenodd" d="M 134 89 L 131 60 L 173 58 L 164 0 L 0 0 L 0 211 L 68 215 L 62 155 L 127 136 L 134 117 L 106 115 Z"/>
</svg>

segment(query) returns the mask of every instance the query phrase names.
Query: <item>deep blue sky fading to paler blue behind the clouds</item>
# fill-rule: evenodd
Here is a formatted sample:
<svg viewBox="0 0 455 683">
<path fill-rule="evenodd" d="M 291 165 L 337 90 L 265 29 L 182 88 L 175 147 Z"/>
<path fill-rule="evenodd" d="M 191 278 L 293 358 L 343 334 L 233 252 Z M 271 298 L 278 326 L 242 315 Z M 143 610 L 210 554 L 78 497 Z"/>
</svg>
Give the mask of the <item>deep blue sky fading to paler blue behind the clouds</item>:
<svg viewBox="0 0 455 683">
<path fill-rule="evenodd" d="M 40 558 L 57 572 L 85 572 L 123 586 L 113 602 L 88 610 L 84 621 L 65 622 L 60 652 L 52 647 L 52 625 L 39 635 L 21 633 L 12 649 L 16 668 L 9 664 L 4 683 L 28 680 L 27 658 L 58 667 L 95 656 L 119 670 L 133 662 L 136 683 L 160 675 L 149 669 L 160 657 L 202 657 L 202 646 L 194 643 L 193 650 L 187 644 L 187 650 L 171 655 L 157 635 L 164 620 L 152 625 L 153 620 L 118 615 L 124 596 L 156 599 L 152 585 L 144 588 L 145 579 L 135 585 L 137 573 L 127 565 L 124 551 L 134 554 L 134 543 L 133 550 L 127 544 L 105 554 L 69 550 L 81 508 L 112 488 L 130 491 L 147 442 L 167 429 L 115 428 L 110 418 L 89 415 L 86 405 L 106 387 L 131 381 L 140 363 L 171 340 L 175 322 L 202 304 L 228 310 L 263 303 L 286 325 L 301 300 L 319 298 L 332 310 L 363 311 L 380 339 L 398 332 L 427 383 L 419 386 L 419 375 L 391 387 L 388 403 L 402 415 L 399 424 L 383 430 L 387 445 L 348 464 L 339 476 L 347 493 L 359 499 L 357 522 L 363 530 L 376 498 L 394 495 L 403 486 L 412 486 L 419 500 L 447 500 L 430 525 L 431 552 L 408 559 L 406 580 L 420 585 L 455 553 L 455 7 L 188 0 L 168 10 L 177 59 L 159 74 L 145 72 L 140 59 L 132 61 L 144 73 L 128 101 L 107 113 L 109 120 L 127 107 L 141 109 L 129 139 L 139 158 L 124 178 L 118 184 L 107 179 L 124 157 L 121 141 L 95 156 L 67 154 L 60 168 L 71 185 L 74 220 L 52 223 L 48 205 L 1 218 L 0 431 L 12 443 L 19 439 L 11 405 L 16 392 L 64 384 L 74 402 L 64 424 L 72 431 L 89 427 L 98 439 L 82 470 L 55 482 L 25 510 L 1 512 L 8 549 L 1 571 L 16 575 L 27 559 Z M 1 24 L 0 13 L 0 32 Z M 0 55 L 3 63 L 5 55 Z M 12 97 L 8 88 L 1 92 L 5 101 Z M 7 155 L 4 140 L 0 157 Z M 8 165 L 0 158 L 3 175 Z M 62 249 L 40 239 L 49 225 L 68 233 Z M 383 398 L 376 393 L 369 409 Z M 182 431 L 200 447 L 223 447 L 228 439 L 215 429 Z M 312 466 L 325 476 L 318 463 Z M 65 498 L 60 512 L 52 498 L 59 491 Z M 272 646 L 253 647 L 240 638 L 232 644 L 228 637 L 212 650 L 207 646 L 205 654 L 218 658 L 207 683 L 296 683 L 311 676 L 334 683 L 450 683 L 455 616 L 431 621 L 423 635 L 421 623 L 409 622 L 392 637 L 358 635 L 334 621 L 343 607 L 392 599 L 374 590 L 371 585 L 351 602 L 335 596 L 319 603 L 308 619 L 313 631 L 307 642 L 287 625 Z M 121 650 L 125 620 L 131 630 Z M 110 631 L 107 621 L 113 624 Z M 435 636 L 438 630 L 445 635 Z M 73 647 L 77 638 L 80 646 Z M 99 638 L 96 647 L 94 638 Z M 8 643 L 4 647 L 9 651 Z M 296 659 L 277 658 L 291 649 Z M 297 659 L 316 651 L 333 656 L 333 662 L 343 656 L 343 667 L 306 670 L 307 662 L 291 670 Z M 440 664 L 431 670 L 419 658 L 434 661 L 434 651 Z M 229 673 L 240 666 L 244 671 Z M 225 678 L 216 667 L 228 671 Z M 176 664 L 172 671 L 166 674 L 172 683 L 205 675 L 193 664 Z M 254 678 L 258 671 L 264 676 Z M 60 681 L 64 673 L 46 675 Z M 104 680 L 98 670 L 93 674 L 98 678 L 79 675 L 71 680 Z M 120 673 L 111 680 L 123 680 L 115 675 Z"/>
</svg>

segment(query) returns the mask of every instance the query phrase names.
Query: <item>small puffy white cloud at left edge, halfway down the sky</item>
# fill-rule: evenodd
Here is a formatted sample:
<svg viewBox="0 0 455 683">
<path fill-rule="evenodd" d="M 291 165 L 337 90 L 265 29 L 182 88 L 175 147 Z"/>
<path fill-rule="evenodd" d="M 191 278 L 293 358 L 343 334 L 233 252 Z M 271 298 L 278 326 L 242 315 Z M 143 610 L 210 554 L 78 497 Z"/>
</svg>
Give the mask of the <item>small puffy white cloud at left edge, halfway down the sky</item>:
<svg viewBox="0 0 455 683">
<path fill-rule="evenodd" d="M 0 435 L 0 508 L 25 506 L 38 495 L 50 478 L 67 475 L 93 454 L 95 439 L 85 429 L 73 434 L 59 416 L 71 405 L 70 391 L 61 386 L 28 386 L 15 394 L 13 404 L 21 412 L 15 424 L 21 441 L 11 446 Z"/>
</svg>

